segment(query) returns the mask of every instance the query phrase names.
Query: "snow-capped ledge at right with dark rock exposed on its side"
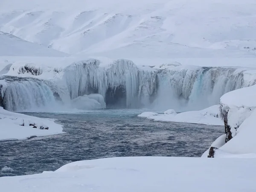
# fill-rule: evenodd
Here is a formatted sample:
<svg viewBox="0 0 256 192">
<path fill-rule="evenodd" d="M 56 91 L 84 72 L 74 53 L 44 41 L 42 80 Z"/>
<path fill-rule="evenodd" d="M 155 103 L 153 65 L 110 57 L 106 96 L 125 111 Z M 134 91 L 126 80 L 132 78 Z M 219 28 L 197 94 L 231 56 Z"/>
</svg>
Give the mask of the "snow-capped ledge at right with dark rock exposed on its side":
<svg viewBox="0 0 256 192">
<path fill-rule="evenodd" d="M 256 85 L 221 97 L 225 134 L 202 157 L 256 157 Z"/>
</svg>

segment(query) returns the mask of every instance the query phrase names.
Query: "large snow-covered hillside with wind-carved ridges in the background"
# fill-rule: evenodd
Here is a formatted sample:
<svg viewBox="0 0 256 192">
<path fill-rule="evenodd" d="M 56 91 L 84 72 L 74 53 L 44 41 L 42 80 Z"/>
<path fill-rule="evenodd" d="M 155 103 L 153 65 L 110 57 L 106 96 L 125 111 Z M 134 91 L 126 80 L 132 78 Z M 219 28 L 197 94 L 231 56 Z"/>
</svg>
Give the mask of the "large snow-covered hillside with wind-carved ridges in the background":
<svg viewBox="0 0 256 192">
<path fill-rule="evenodd" d="M 254 0 L 2 0 L 0 31 L 70 54 L 255 57 Z"/>
</svg>

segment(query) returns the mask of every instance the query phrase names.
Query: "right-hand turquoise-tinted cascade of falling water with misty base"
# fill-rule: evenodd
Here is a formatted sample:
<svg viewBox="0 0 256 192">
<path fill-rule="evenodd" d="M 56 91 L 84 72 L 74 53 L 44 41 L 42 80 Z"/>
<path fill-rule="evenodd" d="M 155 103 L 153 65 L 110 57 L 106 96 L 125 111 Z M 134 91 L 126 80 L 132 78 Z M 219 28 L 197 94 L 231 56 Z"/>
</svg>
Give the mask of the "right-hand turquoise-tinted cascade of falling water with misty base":
<svg viewBox="0 0 256 192">
<path fill-rule="evenodd" d="M 222 67 L 201 67 L 193 70 L 173 68 L 170 71 L 160 71 L 157 99 L 171 104 L 166 107 L 181 111 L 216 105 L 225 93 L 249 86 L 244 84 L 243 73 L 235 71 L 233 68 Z M 166 87 L 165 93 L 161 87 Z"/>
</svg>

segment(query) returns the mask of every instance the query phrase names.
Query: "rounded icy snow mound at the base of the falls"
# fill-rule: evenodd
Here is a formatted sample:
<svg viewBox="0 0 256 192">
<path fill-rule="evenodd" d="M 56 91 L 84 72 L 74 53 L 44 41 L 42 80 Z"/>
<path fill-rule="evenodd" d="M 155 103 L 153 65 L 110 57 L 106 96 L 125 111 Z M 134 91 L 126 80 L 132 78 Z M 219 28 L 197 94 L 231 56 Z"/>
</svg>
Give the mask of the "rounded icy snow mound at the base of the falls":
<svg viewBox="0 0 256 192">
<path fill-rule="evenodd" d="M 79 96 L 71 101 L 71 105 L 81 110 L 106 108 L 104 97 L 100 94 Z"/>
</svg>

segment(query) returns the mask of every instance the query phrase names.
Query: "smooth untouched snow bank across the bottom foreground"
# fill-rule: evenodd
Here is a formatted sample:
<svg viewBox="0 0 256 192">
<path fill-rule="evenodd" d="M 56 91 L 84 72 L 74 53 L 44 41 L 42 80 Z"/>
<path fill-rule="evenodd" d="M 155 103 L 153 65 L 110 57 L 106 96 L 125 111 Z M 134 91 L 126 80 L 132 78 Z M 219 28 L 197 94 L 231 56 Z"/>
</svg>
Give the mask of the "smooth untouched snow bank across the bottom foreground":
<svg viewBox="0 0 256 192">
<path fill-rule="evenodd" d="M 69 163 L 55 172 L 0 177 L 0 186 L 9 192 L 252 192 L 255 171 L 255 161 L 246 158 L 227 163 L 222 158 L 115 157 Z"/>
</svg>

